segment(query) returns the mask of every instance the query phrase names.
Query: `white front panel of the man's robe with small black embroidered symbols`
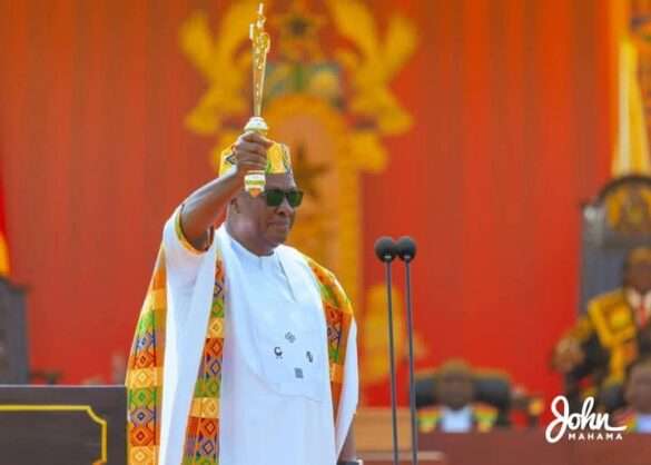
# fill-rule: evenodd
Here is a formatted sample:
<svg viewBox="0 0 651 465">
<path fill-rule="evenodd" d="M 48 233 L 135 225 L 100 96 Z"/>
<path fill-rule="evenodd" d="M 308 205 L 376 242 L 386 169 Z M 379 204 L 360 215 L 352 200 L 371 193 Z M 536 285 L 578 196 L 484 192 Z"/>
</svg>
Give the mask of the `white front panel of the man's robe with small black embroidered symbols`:
<svg viewBox="0 0 651 465">
<path fill-rule="evenodd" d="M 229 318 L 220 465 L 336 463 L 326 323 L 312 270 L 276 250 L 258 257 L 225 229 Z"/>
</svg>

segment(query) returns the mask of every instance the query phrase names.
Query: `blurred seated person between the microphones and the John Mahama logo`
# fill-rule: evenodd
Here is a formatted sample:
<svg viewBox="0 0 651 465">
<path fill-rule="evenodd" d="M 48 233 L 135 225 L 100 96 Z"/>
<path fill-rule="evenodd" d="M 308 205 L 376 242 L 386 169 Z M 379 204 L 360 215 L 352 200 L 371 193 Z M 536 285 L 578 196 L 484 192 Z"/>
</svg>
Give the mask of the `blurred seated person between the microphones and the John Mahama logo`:
<svg viewBox="0 0 651 465">
<path fill-rule="evenodd" d="M 474 376 L 463 360 L 450 360 L 436 373 L 436 405 L 418 410 L 418 431 L 430 433 L 486 432 L 497 419 L 497 409 L 474 403 Z"/>
</svg>

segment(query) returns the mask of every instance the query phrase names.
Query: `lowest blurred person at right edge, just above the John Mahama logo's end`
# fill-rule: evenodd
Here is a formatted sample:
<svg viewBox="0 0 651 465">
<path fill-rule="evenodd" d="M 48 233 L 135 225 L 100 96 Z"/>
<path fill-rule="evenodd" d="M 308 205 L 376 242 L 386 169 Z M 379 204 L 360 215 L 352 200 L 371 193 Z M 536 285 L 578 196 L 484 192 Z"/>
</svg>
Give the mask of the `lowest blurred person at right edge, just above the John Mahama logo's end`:
<svg viewBox="0 0 651 465">
<path fill-rule="evenodd" d="M 629 370 L 624 395 L 628 407 L 615 414 L 627 433 L 651 433 L 651 358 L 637 362 Z"/>
</svg>

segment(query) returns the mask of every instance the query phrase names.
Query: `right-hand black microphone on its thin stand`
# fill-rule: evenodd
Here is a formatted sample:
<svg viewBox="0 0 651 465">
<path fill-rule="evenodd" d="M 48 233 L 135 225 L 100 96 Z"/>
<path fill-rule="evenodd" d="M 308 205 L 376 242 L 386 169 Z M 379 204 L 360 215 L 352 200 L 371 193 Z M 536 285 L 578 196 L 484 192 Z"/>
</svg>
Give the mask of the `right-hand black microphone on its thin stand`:
<svg viewBox="0 0 651 465">
<path fill-rule="evenodd" d="M 414 384 L 414 314 L 412 311 L 412 280 L 410 264 L 416 258 L 416 241 L 403 236 L 395 245 L 396 255 L 405 263 L 407 300 L 407 338 L 410 342 L 410 416 L 412 421 L 412 464 L 418 464 L 418 432 L 416 427 L 416 386 Z"/>
</svg>

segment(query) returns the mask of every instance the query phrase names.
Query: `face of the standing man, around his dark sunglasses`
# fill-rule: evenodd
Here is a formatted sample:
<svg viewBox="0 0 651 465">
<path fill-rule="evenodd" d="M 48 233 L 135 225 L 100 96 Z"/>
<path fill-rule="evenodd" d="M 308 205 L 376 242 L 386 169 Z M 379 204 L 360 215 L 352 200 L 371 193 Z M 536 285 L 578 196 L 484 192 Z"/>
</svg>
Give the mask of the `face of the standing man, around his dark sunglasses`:
<svg viewBox="0 0 651 465">
<path fill-rule="evenodd" d="M 296 190 L 294 176 L 290 174 L 267 175 L 265 190 Z M 268 207 L 264 195 L 251 197 L 240 194 L 238 197 L 240 214 L 247 219 L 247 225 L 253 229 L 262 243 L 269 247 L 277 247 L 287 240 L 287 236 L 294 226 L 296 209 L 287 198 L 278 207 Z"/>
</svg>

